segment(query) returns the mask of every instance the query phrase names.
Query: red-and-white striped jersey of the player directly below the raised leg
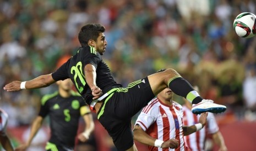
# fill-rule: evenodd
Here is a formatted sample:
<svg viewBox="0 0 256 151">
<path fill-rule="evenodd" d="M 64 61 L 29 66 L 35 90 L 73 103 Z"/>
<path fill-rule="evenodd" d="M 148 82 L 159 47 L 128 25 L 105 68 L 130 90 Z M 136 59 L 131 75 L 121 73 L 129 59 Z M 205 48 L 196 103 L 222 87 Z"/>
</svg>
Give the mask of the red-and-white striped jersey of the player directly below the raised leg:
<svg viewBox="0 0 256 151">
<path fill-rule="evenodd" d="M 144 107 L 135 123 L 153 138 L 162 141 L 168 141 L 175 138 L 179 141 L 179 146 L 176 149 L 167 150 L 187 150 L 184 143 L 183 129 L 182 129 L 182 106 L 176 102 L 172 106 L 159 101 L 154 98 Z M 149 146 L 149 150 L 166 150 Z"/>
</svg>

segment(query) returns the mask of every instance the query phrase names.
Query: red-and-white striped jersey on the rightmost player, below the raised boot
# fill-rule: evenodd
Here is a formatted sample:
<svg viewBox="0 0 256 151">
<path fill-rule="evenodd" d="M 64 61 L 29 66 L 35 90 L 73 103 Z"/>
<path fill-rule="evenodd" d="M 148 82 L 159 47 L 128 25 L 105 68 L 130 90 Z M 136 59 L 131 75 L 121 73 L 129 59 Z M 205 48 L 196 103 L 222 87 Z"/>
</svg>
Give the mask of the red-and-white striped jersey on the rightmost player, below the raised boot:
<svg viewBox="0 0 256 151">
<path fill-rule="evenodd" d="M 183 124 L 186 126 L 194 125 L 198 123 L 200 115 L 193 114 L 191 109 L 183 106 Z M 188 136 L 184 136 L 186 146 L 190 150 L 204 150 L 204 144 L 207 133 L 215 133 L 219 131 L 219 127 L 216 123 L 213 113 L 208 112 L 207 123 L 200 131 L 194 132 Z"/>
</svg>

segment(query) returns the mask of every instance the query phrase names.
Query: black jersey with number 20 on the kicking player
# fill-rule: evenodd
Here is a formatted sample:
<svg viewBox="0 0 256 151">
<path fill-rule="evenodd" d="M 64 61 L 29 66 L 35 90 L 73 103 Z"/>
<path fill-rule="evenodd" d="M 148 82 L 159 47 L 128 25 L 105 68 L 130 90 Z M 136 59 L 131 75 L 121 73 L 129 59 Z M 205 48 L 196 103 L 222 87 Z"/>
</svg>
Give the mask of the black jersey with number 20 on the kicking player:
<svg viewBox="0 0 256 151">
<path fill-rule="evenodd" d="M 112 88 L 119 88 L 122 85 L 117 84 L 112 77 L 110 68 L 102 60 L 101 55 L 95 51 L 94 47 L 80 48 L 76 55 L 71 57 L 56 72 L 52 73 L 52 78 L 56 81 L 70 78 L 77 91 L 84 97 L 86 103 L 92 101 L 91 89 L 86 84 L 84 67 L 87 64 L 94 65 L 96 68 L 96 84 L 105 94 Z"/>
</svg>

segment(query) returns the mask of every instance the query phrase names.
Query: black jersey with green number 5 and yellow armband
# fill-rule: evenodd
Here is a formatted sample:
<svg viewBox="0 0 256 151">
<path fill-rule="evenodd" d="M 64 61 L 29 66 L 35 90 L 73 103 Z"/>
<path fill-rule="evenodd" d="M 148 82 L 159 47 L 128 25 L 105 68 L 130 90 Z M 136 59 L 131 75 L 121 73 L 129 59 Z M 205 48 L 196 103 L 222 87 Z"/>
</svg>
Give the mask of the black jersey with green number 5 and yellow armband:
<svg viewBox="0 0 256 151">
<path fill-rule="evenodd" d="M 39 116 L 50 117 L 49 142 L 73 148 L 79 118 L 87 113 L 90 113 L 90 109 L 78 93 L 72 92 L 72 96 L 63 98 L 55 92 L 42 97 Z"/>
</svg>

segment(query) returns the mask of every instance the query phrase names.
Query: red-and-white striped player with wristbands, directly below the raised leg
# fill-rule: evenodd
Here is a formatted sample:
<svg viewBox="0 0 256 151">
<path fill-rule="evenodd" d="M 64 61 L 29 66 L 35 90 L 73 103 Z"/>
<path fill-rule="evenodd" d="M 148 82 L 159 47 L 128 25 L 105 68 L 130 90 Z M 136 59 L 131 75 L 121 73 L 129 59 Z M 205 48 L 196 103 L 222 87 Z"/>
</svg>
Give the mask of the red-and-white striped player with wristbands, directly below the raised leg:
<svg viewBox="0 0 256 151">
<path fill-rule="evenodd" d="M 200 130 L 206 124 L 208 113 L 203 113 L 199 124 L 183 126 L 182 106 L 172 101 L 172 96 L 169 88 L 161 91 L 143 108 L 135 123 L 134 140 L 149 145 L 149 150 L 189 150 L 183 135 Z"/>
</svg>

